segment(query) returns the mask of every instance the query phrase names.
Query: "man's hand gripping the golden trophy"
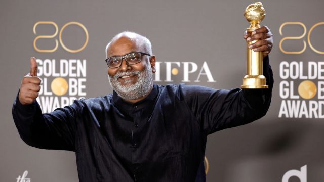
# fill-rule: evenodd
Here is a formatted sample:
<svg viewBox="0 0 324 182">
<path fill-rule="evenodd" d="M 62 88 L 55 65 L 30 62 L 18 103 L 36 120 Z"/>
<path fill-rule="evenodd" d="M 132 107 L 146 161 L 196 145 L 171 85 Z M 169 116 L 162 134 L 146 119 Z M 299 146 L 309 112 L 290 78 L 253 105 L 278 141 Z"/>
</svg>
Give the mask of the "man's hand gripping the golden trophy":
<svg viewBox="0 0 324 182">
<path fill-rule="evenodd" d="M 253 49 L 255 52 L 262 51 L 263 57 L 268 56 L 273 47 L 273 35 L 267 26 L 262 26 L 251 34 L 245 31 L 244 39 L 247 41 L 257 40 L 255 43 L 249 45 L 249 49 Z"/>
</svg>

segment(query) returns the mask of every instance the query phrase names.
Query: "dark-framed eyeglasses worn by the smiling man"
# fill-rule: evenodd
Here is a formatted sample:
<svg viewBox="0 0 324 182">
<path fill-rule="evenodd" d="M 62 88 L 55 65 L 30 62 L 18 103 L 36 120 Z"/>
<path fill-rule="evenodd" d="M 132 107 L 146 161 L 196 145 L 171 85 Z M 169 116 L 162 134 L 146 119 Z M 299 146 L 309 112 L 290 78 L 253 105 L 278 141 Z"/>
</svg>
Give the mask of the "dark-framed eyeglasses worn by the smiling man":
<svg viewBox="0 0 324 182">
<path fill-rule="evenodd" d="M 128 65 L 133 65 L 141 62 L 143 55 L 151 56 L 147 53 L 133 52 L 124 56 L 113 56 L 107 58 L 105 61 L 109 68 L 118 68 L 119 66 L 121 66 L 121 62 L 123 62 L 123 59 L 125 59 Z"/>
</svg>

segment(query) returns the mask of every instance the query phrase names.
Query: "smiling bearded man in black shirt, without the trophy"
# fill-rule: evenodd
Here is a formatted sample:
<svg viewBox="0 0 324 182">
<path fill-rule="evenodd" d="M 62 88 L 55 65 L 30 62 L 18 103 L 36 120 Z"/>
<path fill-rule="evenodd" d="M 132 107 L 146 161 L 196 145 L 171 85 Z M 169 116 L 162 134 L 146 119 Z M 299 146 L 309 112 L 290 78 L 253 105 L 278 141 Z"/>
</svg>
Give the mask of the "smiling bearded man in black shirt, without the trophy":
<svg viewBox="0 0 324 182">
<path fill-rule="evenodd" d="M 48 114 L 35 101 L 41 81 L 32 57 L 13 106 L 19 134 L 33 147 L 75 151 L 80 181 L 205 181 L 207 135 L 252 122 L 270 105 L 272 34 L 261 27 L 244 38 L 258 40 L 251 49 L 263 51 L 268 89 L 153 84 L 150 41 L 123 32 L 106 47 L 113 94 Z"/>
</svg>

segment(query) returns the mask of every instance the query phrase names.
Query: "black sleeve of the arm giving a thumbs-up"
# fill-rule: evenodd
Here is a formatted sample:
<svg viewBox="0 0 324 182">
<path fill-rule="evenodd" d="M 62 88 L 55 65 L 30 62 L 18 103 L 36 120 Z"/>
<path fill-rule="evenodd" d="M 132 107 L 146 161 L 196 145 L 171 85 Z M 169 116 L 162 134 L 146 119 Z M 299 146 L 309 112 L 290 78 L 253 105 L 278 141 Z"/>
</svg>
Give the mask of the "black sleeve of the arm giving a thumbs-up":
<svg viewBox="0 0 324 182">
<path fill-rule="evenodd" d="M 82 113 L 82 100 L 75 100 L 70 106 L 42 114 L 37 101 L 22 105 L 18 95 L 12 115 L 19 135 L 26 144 L 41 149 L 75 151 L 76 118 Z"/>
</svg>

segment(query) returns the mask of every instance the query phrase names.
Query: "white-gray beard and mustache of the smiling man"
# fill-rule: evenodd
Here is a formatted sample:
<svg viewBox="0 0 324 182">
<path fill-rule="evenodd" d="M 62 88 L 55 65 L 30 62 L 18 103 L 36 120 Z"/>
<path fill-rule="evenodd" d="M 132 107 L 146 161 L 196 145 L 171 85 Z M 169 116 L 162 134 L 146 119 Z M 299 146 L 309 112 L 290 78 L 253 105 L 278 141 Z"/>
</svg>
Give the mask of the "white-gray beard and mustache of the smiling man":
<svg viewBox="0 0 324 182">
<path fill-rule="evenodd" d="M 136 83 L 129 86 L 121 85 L 118 81 L 120 76 L 137 75 Z M 129 83 L 131 80 L 125 81 Z M 143 71 L 118 72 L 114 76 L 109 76 L 109 83 L 118 96 L 124 100 L 136 100 L 148 94 L 153 86 L 152 68 L 147 66 Z"/>
</svg>

